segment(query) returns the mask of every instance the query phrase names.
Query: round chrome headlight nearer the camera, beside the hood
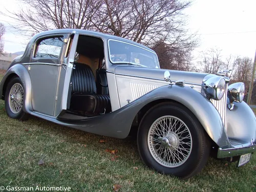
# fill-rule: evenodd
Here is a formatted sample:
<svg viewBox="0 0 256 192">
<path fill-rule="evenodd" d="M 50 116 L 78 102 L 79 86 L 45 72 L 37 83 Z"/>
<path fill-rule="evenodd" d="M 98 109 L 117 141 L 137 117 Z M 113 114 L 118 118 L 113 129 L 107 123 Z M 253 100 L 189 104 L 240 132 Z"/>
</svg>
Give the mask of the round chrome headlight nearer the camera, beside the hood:
<svg viewBox="0 0 256 192">
<path fill-rule="evenodd" d="M 225 93 L 226 81 L 224 77 L 210 77 L 202 84 L 202 90 L 208 98 L 221 100 Z"/>
</svg>

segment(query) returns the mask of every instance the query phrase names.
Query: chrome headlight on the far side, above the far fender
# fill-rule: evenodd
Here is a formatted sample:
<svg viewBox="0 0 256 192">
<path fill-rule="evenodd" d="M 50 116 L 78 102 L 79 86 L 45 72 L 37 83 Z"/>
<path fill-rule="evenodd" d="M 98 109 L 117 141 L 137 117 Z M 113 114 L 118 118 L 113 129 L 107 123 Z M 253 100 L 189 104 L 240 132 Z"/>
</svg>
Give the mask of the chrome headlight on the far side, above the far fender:
<svg viewBox="0 0 256 192">
<path fill-rule="evenodd" d="M 245 87 L 243 82 L 236 82 L 228 86 L 227 96 L 230 102 L 242 102 L 244 99 Z"/>
</svg>

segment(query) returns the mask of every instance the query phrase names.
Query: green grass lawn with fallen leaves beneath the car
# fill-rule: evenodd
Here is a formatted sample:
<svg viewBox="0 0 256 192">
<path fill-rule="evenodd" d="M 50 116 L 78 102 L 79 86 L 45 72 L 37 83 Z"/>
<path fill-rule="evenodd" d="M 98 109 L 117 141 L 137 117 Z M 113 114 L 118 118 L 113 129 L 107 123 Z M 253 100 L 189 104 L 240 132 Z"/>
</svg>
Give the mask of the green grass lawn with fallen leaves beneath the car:
<svg viewBox="0 0 256 192">
<path fill-rule="evenodd" d="M 200 174 L 183 181 L 144 166 L 132 139 L 102 137 L 36 117 L 19 122 L 7 117 L 2 100 L 0 132 L 0 186 L 113 191 L 119 184 L 119 191 L 256 191 L 256 154 L 240 168 L 210 158 Z"/>
</svg>

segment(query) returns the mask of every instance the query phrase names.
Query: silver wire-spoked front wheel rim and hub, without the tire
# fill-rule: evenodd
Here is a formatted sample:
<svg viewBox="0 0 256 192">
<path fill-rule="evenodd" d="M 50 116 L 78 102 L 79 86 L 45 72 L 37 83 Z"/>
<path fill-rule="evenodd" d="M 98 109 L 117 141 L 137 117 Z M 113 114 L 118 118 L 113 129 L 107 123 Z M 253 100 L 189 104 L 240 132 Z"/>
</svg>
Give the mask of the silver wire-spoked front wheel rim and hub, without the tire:
<svg viewBox="0 0 256 192">
<path fill-rule="evenodd" d="M 182 165 L 192 149 L 188 127 L 174 116 L 158 118 L 150 127 L 147 141 L 153 158 L 166 167 Z"/>
</svg>

